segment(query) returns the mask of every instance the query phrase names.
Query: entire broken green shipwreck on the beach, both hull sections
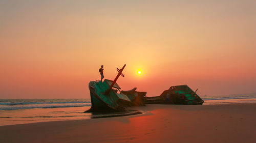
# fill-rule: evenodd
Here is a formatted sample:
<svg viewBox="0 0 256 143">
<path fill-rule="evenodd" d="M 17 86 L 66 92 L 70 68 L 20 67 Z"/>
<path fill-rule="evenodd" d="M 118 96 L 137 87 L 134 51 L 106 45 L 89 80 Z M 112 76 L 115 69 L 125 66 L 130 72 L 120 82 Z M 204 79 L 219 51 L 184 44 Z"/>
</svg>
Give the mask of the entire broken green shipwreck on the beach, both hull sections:
<svg viewBox="0 0 256 143">
<path fill-rule="evenodd" d="M 92 106 L 85 112 L 125 111 L 129 106 L 145 104 L 203 104 L 204 102 L 187 85 L 170 87 L 160 96 L 155 97 L 146 97 L 146 92 L 138 92 L 137 88 L 122 91 L 116 81 L 120 75 L 124 77 L 122 71 L 125 66 L 121 69 L 117 68 L 118 74 L 114 80 L 89 82 Z"/>
</svg>

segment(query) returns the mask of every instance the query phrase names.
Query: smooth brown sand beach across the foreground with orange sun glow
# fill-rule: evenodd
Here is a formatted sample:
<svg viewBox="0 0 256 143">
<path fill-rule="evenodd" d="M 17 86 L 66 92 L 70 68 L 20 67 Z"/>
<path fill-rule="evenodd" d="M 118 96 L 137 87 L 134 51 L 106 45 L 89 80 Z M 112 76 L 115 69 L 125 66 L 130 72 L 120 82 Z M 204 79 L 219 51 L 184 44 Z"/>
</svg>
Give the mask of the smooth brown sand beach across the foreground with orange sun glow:
<svg viewBox="0 0 256 143">
<path fill-rule="evenodd" d="M 147 105 L 143 115 L 0 127 L 0 142 L 256 142 L 256 104 Z"/>
</svg>

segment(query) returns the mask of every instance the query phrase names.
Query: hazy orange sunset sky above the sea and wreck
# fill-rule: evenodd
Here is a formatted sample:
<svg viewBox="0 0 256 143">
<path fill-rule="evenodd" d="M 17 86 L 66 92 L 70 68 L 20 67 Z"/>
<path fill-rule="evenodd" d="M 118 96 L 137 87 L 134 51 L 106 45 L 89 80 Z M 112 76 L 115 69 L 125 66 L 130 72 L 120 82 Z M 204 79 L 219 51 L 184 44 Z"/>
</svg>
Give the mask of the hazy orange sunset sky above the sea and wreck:
<svg viewBox="0 0 256 143">
<path fill-rule="evenodd" d="M 0 1 L 0 98 L 90 98 L 124 64 L 147 96 L 256 93 L 255 25 L 250 0 Z"/>
</svg>

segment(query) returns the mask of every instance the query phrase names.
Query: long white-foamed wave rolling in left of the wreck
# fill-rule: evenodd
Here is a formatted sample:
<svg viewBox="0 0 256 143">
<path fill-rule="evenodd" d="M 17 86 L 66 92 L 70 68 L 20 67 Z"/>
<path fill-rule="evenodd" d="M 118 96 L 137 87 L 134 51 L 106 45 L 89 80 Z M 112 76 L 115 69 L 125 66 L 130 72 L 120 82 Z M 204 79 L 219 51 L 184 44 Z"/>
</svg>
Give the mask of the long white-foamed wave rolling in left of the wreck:
<svg viewBox="0 0 256 143">
<path fill-rule="evenodd" d="M 46 105 L 2 105 L 0 110 L 17 110 L 17 109 L 32 109 L 32 108 L 65 108 L 65 107 L 84 107 L 91 106 L 91 104 L 46 104 Z"/>
</svg>

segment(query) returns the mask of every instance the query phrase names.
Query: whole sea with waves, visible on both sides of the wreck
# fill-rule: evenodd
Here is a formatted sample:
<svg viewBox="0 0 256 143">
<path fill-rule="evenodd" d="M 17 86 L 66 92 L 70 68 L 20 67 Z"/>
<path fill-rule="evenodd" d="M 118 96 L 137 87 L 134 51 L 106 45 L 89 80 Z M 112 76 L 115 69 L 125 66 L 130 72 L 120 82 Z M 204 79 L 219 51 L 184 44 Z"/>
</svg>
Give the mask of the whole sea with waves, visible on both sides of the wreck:
<svg viewBox="0 0 256 143">
<path fill-rule="evenodd" d="M 256 95 L 204 96 L 203 105 L 256 103 Z M 0 99 L 0 126 L 91 119 L 90 99 Z"/>
</svg>

